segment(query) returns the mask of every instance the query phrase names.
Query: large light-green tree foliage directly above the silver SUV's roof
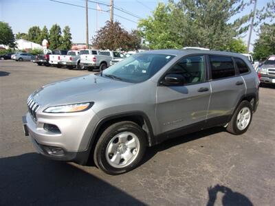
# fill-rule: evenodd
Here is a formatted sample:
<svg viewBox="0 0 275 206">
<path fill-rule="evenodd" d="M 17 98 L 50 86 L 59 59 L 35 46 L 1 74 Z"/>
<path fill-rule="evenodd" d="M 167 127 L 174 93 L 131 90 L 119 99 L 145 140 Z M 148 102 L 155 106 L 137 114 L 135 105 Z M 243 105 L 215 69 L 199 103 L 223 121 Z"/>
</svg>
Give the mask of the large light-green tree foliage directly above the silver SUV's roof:
<svg viewBox="0 0 275 206">
<path fill-rule="evenodd" d="M 181 0 L 159 3 L 138 27 L 151 49 L 186 46 L 222 49 L 248 30 L 250 14 L 236 18 L 248 4 L 241 0 Z M 231 19 L 235 19 L 230 23 Z"/>
</svg>

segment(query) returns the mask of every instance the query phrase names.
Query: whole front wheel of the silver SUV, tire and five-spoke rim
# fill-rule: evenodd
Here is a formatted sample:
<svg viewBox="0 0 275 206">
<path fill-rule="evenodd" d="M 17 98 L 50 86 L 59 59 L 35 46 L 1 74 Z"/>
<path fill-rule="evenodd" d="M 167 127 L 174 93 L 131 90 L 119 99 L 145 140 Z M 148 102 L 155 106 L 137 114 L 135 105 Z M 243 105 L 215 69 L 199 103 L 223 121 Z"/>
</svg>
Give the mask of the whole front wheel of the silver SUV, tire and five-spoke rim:
<svg viewBox="0 0 275 206">
<path fill-rule="evenodd" d="M 144 130 L 134 122 L 118 122 L 100 135 L 94 150 L 94 162 L 107 174 L 122 174 L 137 167 L 145 150 Z"/>
</svg>

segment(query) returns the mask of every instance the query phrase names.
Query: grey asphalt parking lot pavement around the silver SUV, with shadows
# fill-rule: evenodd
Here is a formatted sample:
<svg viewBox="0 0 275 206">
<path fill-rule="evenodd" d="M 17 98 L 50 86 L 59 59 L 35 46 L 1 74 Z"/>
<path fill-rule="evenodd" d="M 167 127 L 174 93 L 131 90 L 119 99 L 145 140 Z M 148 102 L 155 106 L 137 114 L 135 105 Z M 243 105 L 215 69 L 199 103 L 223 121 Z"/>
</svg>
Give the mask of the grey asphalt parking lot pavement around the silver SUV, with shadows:
<svg viewBox="0 0 275 206">
<path fill-rule="evenodd" d="M 23 135 L 30 93 L 87 73 L 0 61 L 0 205 L 275 204 L 275 87 L 261 87 L 244 135 L 212 128 L 172 139 L 149 148 L 139 168 L 109 176 L 47 160 Z"/>
</svg>

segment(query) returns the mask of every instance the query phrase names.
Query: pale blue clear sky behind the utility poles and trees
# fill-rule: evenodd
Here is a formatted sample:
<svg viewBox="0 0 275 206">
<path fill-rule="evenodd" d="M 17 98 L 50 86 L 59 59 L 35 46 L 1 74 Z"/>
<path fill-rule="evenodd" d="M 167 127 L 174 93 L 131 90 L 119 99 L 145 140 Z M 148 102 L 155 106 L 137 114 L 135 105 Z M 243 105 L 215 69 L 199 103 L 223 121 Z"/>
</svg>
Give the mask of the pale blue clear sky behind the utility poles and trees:
<svg viewBox="0 0 275 206">
<path fill-rule="evenodd" d="M 72 3 L 75 5 L 85 6 L 85 0 L 56 0 L 65 3 Z M 97 0 L 94 0 L 97 1 Z M 167 3 L 168 0 L 113 0 L 114 5 L 134 16 L 125 14 L 119 10 L 114 10 L 114 20 L 120 21 L 122 27 L 131 31 L 137 27 L 136 16 L 146 18 L 151 16 L 152 11 L 158 2 Z M 247 0 L 250 1 L 250 0 Z M 257 9 L 263 8 L 269 0 L 259 0 Z M 109 4 L 109 0 L 98 0 L 98 3 Z M 96 3 L 89 2 L 89 8 L 96 9 Z M 109 10 L 107 5 L 99 4 L 102 10 Z M 248 14 L 253 8 L 250 5 L 241 14 Z M 122 16 L 126 19 L 122 19 Z M 238 17 L 238 16 L 236 16 Z M 104 26 L 104 23 L 110 18 L 109 12 L 96 12 L 96 10 L 89 9 L 89 39 L 94 36 L 96 30 Z M 14 34 L 18 32 L 28 33 L 28 29 L 34 25 L 39 27 L 47 26 L 48 30 L 54 23 L 61 26 L 69 25 L 72 32 L 72 41 L 74 43 L 85 43 L 85 8 L 78 8 L 72 5 L 65 5 L 50 0 L 0 0 L 0 21 L 9 23 Z M 254 43 L 257 35 L 252 33 L 252 43 Z M 245 43 L 248 41 L 248 34 L 243 35 Z"/>
</svg>

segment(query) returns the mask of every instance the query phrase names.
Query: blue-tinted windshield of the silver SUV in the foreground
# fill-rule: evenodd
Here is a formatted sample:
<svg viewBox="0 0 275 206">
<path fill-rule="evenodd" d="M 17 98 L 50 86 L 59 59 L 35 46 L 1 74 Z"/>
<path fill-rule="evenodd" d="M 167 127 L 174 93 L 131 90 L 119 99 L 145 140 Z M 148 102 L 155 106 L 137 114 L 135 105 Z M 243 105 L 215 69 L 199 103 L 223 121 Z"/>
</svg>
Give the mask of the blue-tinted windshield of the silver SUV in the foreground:
<svg viewBox="0 0 275 206">
<path fill-rule="evenodd" d="M 102 71 L 100 75 L 124 82 L 144 82 L 174 57 L 166 54 L 135 54 Z"/>
</svg>

